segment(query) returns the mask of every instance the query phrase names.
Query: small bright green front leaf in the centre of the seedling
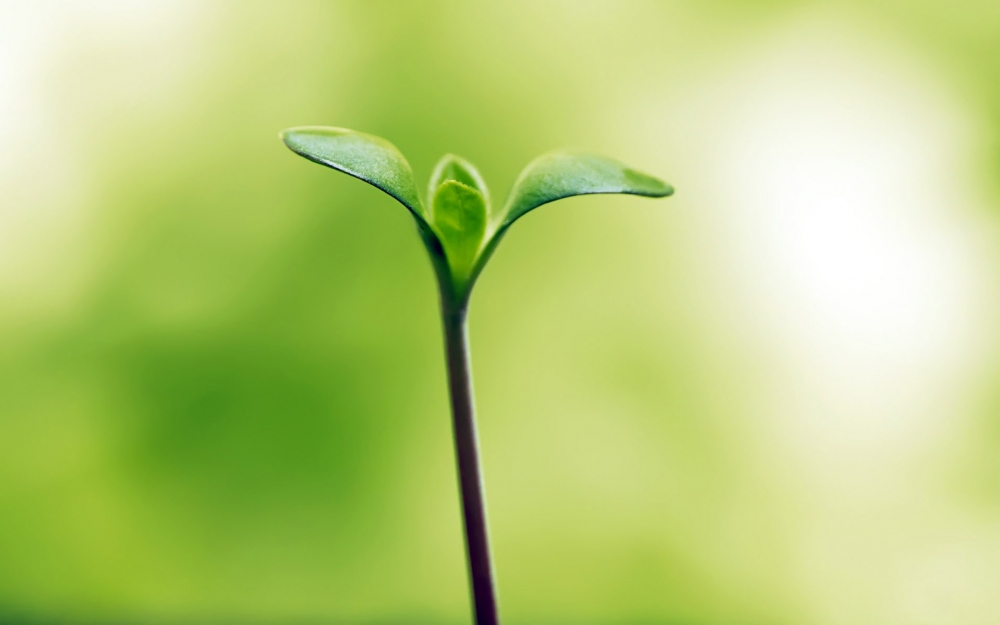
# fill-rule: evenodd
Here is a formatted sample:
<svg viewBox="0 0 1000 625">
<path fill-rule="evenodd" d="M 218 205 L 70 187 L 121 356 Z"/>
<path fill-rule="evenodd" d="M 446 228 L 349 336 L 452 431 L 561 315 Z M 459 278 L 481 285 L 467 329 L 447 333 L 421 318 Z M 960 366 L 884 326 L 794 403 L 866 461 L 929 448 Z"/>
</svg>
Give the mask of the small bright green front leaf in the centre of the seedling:
<svg viewBox="0 0 1000 625">
<path fill-rule="evenodd" d="M 486 199 L 457 180 L 438 186 L 433 201 L 434 228 L 441 239 L 454 286 L 468 281 L 486 234 Z"/>
</svg>

